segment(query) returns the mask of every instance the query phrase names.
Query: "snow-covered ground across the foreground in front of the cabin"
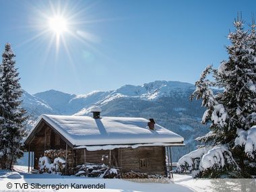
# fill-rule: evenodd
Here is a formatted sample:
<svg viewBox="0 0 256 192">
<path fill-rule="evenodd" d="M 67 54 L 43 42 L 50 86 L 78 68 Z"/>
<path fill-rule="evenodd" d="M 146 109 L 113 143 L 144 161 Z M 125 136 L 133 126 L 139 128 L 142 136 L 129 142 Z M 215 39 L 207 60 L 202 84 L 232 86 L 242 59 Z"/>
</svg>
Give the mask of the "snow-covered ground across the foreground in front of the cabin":
<svg viewBox="0 0 256 192">
<path fill-rule="evenodd" d="M 7 185 L 12 190 L 20 189 L 24 183 L 28 183 L 28 189 L 25 191 L 84 191 L 85 189 L 70 189 L 71 184 L 76 185 L 104 185 L 105 189 L 86 189 L 86 191 L 113 191 L 113 192 L 150 192 L 150 191 L 242 191 L 245 187 L 246 191 L 255 189 L 256 180 L 254 179 L 192 179 L 191 176 L 185 174 L 174 174 L 174 179 L 170 179 L 167 183 L 159 181 L 166 180 L 143 180 L 145 183 L 137 182 L 137 180 L 125 179 L 88 179 L 85 177 L 61 176 L 56 174 L 30 174 L 27 172 L 26 166 L 15 166 L 15 171 L 7 172 L 0 170 L 0 191 L 6 191 Z M 158 181 L 158 182 L 156 182 Z M 9 184 L 11 183 L 11 184 Z M 19 183 L 19 184 L 18 184 Z M 69 189 L 32 189 L 32 183 L 40 183 L 45 185 L 68 185 Z M 35 185 L 34 185 L 35 186 Z M 17 188 L 18 187 L 18 188 Z M 10 190 L 10 189 L 9 189 Z M 20 189 L 22 191 L 22 189 Z"/>
</svg>

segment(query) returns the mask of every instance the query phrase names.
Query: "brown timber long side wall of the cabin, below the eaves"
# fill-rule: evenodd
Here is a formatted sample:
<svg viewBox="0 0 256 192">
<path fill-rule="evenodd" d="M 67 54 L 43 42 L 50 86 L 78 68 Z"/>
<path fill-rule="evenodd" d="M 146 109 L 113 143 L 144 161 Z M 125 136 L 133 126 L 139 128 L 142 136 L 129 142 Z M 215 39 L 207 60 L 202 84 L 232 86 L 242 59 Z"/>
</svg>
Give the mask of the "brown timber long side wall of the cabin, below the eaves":
<svg viewBox="0 0 256 192">
<path fill-rule="evenodd" d="M 102 161 L 102 156 L 108 156 Z M 146 159 L 146 166 L 140 166 L 140 160 Z M 86 150 L 86 160 L 84 150 L 76 150 L 76 164 L 104 163 L 109 165 L 109 150 L 88 151 Z M 166 175 L 165 150 L 162 146 L 141 147 L 141 148 L 120 148 L 111 150 L 111 166 L 121 168 L 121 172 L 131 170 L 137 172 L 147 172 L 148 174 Z"/>
</svg>

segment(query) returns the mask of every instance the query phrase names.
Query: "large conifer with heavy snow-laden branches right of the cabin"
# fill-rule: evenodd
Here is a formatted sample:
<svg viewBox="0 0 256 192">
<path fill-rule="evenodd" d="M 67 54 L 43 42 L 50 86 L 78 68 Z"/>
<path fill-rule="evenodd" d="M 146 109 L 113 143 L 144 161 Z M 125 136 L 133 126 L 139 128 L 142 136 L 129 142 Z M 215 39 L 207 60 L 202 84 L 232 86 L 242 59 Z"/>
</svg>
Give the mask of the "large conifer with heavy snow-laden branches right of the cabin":
<svg viewBox="0 0 256 192">
<path fill-rule="evenodd" d="M 248 31 L 243 26 L 238 17 L 236 30 L 228 35 L 228 61 L 218 69 L 208 66 L 195 84 L 191 99 L 202 99 L 202 123 L 210 123 L 210 132 L 198 138 L 205 150 L 183 156 L 178 171 L 190 170 L 194 177 L 256 177 L 255 24 Z M 209 74 L 213 81 L 206 78 Z M 220 90 L 213 92 L 213 87 Z"/>
</svg>

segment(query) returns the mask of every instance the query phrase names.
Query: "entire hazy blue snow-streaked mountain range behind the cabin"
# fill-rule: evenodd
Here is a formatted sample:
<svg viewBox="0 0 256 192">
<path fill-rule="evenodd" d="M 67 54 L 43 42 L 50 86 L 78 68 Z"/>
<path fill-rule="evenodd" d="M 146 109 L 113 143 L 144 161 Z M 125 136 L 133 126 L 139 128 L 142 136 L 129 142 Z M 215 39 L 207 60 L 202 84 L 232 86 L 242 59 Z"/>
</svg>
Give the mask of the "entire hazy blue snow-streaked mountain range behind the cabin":
<svg viewBox="0 0 256 192">
<path fill-rule="evenodd" d="M 154 118 L 159 125 L 185 138 L 185 147 L 172 148 L 175 162 L 195 150 L 198 143 L 194 139 L 207 133 L 207 126 L 200 123 L 205 108 L 201 107 L 200 100 L 189 100 L 193 90 L 193 84 L 156 81 L 84 95 L 57 90 L 32 95 L 24 91 L 22 104 L 30 116 L 30 123 L 41 114 L 90 115 L 93 106 L 102 108 L 102 116 Z"/>
</svg>

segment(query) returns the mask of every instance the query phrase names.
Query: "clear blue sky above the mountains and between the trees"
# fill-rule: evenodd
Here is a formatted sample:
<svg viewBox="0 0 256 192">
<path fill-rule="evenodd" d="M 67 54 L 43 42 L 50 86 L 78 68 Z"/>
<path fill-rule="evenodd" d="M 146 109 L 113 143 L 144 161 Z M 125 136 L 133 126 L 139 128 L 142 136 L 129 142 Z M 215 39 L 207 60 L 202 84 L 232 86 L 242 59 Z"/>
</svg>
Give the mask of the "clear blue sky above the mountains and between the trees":
<svg viewBox="0 0 256 192">
<path fill-rule="evenodd" d="M 0 48 L 11 43 L 22 88 L 31 94 L 86 94 L 155 80 L 193 84 L 206 65 L 218 67 L 228 57 L 224 45 L 237 12 L 251 22 L 255 6 L 227 0 L 0 0 Z M 55 14 L 68 20 L 59 51 L 49 30 Z"/>
</svg>

